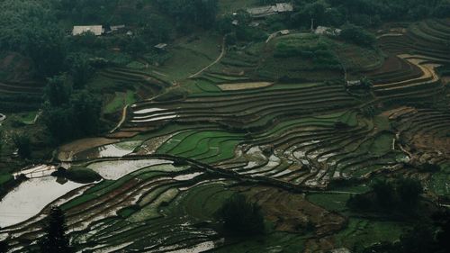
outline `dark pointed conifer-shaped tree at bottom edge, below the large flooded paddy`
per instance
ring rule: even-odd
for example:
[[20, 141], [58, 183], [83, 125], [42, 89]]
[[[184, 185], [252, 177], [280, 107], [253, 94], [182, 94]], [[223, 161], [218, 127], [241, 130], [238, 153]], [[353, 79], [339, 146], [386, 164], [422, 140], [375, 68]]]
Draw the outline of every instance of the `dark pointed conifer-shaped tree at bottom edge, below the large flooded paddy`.
[[66, 218], [64, 212], [58, 207], [53, 206], [47, 217], [47, 224], [44, 228], [45, 235], [38, 241], [41, 252], [74, 252], [69, 246], [69, 240], [66, 236]]

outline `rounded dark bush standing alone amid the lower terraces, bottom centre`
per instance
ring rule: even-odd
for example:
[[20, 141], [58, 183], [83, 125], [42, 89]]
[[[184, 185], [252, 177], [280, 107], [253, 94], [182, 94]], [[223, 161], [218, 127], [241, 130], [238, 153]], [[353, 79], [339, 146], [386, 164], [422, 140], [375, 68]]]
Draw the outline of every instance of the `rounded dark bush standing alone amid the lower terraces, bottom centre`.
[[247, 235], [264, 233], [264, 217], [261, 207], [251, 203], [242, 194], [235, 194], [219, 210], [226, 230]]

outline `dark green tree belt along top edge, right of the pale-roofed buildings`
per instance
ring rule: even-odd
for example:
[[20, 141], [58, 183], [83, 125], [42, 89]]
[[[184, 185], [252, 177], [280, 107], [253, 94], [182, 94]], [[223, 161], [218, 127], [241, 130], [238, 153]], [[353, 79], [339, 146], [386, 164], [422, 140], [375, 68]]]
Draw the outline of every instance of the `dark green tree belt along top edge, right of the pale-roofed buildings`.
[[[274, 4], [275, 1], [264, 1]], [[291, 23], [295, 27], [319, 25], [338, 27], [344, 23], [355, 23], [364, 27], [374, 27], [383, 22], [417, 21], [425, 18], [445, 18], [450, 16], [450, 3], [446, 0], [296, 0]], [[266, 5], [266, 4], [265, 4]]]

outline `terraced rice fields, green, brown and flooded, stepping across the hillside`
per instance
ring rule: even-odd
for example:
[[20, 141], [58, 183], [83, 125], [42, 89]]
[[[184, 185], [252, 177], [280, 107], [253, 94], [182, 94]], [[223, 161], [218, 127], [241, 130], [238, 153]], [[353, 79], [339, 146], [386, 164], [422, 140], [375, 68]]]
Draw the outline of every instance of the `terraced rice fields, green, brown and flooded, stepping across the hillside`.
[[[350, 248], [359, 239], [370, 245], [374, 234], [399, 238], [401, 228], [390, 222], [352, 219], [343, 230], [347, 221], [338, 212], [347, 212], [343, 203], [353, 193], [323, 190], [430, 162], [444, 169], [427, 183], [437, 194], [448, 194], [443, 182], [450, 114], [438, 106], [446, 87], [435, 69], [449, 54], [434, 46], [449, 37], [447, 21], [415, 23], [404, 34], [380, 36], [386, 59], [361, 66], [347, 61], [374, 82], [364, 95], [347, 89], [342, 69], [335, 69], [333, 77], [340, 79], [334, 81], [258, 74], [259, 55], [266, 50], [261, 43], [227, 51], [196, 77], [185, 79], [197, 68], [178, 73], [183, 78], [172, 85], [149, 72], [105, 69], [102, 78], [132, 84], [147, 99], [126, 107], [121, 123], [104, 138], [59, 149], [59, 160], [89, 167], [104, 180], [49, 201], [62, 204], [76, 248], [92, 252], [293, 252], [333, 249], [327, 248], [330, 241], [338, 247]], [[343, 55], [351, 58], [349, 51]], [[185, 94], [156, 99], [168, 86]], [[369, 106], [373, 115], [365, 113]], [[214, 213], [235, 193], [260, 203], [273, 223], [263, 243], [229, 243], [220, 235]], [[42, 214], [48, 212], [46, 206], [30, 220], [0, 230], [0, 237], [9, 234], [13, 252], [23, 252], [41, 235]], [[308, 226], [311, 231], [298, 233]]]

